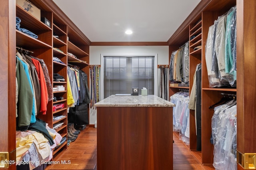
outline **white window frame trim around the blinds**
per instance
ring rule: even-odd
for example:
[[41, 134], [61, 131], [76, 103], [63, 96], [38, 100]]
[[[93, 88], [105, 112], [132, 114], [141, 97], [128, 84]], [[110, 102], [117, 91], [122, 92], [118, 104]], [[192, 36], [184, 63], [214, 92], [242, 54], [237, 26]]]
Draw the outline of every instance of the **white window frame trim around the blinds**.
[[157, 54], [100, 54], [100, 67], [102, 73], [100, 73], [100, 100], [104, 99], [104, 57], [145, 57], [145, 56], [154, 56], [154, 95], [157, 94]]

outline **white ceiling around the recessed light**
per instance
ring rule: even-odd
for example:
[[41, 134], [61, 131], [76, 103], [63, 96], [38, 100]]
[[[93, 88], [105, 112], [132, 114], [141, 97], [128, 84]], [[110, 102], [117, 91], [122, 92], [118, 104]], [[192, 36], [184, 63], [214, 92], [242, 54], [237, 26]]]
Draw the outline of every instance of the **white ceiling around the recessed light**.
[[[200, 0], [53, 0], [91, 42], [167, 42]], [[126, 29], [133, 34], [126, 35]]]

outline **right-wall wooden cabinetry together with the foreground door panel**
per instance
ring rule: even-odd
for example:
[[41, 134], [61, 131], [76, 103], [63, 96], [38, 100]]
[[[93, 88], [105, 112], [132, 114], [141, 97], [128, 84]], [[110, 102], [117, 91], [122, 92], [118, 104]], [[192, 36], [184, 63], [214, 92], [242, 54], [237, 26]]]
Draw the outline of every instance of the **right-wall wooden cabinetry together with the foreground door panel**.
[[[233, 6], [237, 6], [237, 87], [210, 88], [205, 60], [208, 30], [218, 16], [227, 13]], [[253, 147], [255, 130], [248, 130], [255, 127], [248, 120], [249, 117], [250, 119], [255, 117], [255, 108], [252, 106], [252, 103], [255, 103], [255, 97], [252, 97], [255, 88], [251, 84], [254, 79], [250, 78], [256, 65], [255, 59], [251, 58], [251, 54], [255, 53], [255, 48], [252, 46], [256, 43], [253, 33], [255, 24], [252, 24], [256, 17], [255, 11], [252, 10], [255, 6], [254, 0], [202, 0], [168, 40], [169, 55], [188, 40], [190, 42], [190, 91], [196, 65], [202, 63], [202, 151], [196, 151], [196, 125], [193, 110], [190, 110], [190, 145], [188, 147], [202, 164], [209, 165], [209, 169], [213, 168], [211, 165], [214, 157], [214, 146], [210, 143], [211, 119], [214, 111], [209, 109], [209, 106], [220, 101], [221, 93], [232, 93], [237, 96], [237, 150], [241, 152], [240, 156], [243, 157], [244, 153], [255, 153], [256, 151], [256, 148]], [[246, 16], [250, 16], [250, 19]], [[192, 36], [194, 37], [192, 38]], [[202, 47], [194, 50], [194, 47], [198, 45], [202, 45]], [[178, 92], [180, 88], [182, 87], [170, 86], [169, 96]], [[238, 160], [238, 169], [244, 169], [243, 167], [246, 167], [248, 162], [242, 162], [242, 159]], [[243, 166], [241, 166], [242, 164]]]

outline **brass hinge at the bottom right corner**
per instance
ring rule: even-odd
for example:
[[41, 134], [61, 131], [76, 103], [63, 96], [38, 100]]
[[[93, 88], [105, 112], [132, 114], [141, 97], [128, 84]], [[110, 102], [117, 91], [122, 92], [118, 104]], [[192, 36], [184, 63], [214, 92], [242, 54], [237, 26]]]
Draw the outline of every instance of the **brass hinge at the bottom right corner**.
[[241, 153], [237, 150], [237, 163], [245, 170], [256, 169], [256, 153]]

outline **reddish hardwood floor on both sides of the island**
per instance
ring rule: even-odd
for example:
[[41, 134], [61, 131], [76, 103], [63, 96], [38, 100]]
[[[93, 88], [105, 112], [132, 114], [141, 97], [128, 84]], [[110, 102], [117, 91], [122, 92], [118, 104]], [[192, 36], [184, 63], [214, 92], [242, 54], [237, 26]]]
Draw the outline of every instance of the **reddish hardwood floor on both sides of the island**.
[[[173, 170], [214, 170], [213, 166], [202, 166], [191, 154], [188, 147], [173, 133]], [[70, 164], [61, 164], [66, 160]], [[87, 127], [78, 138], [71, 142], [68, 150], [62, 152], [56, 161], [59, 164], [48, 166], [50, 170], [96, 170], [97, 169], [97, 129]]]

